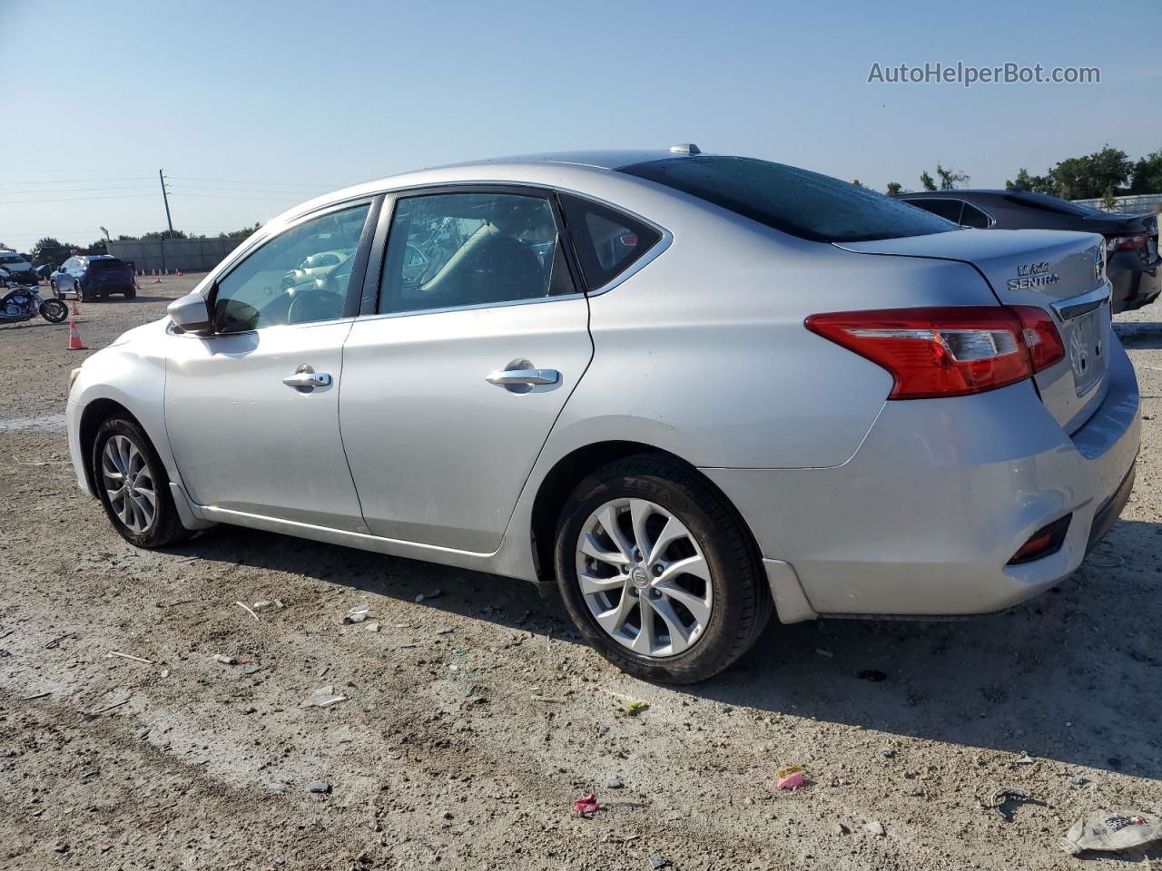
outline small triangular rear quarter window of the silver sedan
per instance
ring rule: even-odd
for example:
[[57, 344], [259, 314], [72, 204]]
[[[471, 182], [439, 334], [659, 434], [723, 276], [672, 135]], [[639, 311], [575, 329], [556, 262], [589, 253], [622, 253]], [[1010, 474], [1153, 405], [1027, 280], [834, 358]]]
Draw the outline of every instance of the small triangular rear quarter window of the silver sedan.
[[560, 201], [590, 290], [608, 285], [661, 239], [652, 226], [601, 203], [569, 194]]

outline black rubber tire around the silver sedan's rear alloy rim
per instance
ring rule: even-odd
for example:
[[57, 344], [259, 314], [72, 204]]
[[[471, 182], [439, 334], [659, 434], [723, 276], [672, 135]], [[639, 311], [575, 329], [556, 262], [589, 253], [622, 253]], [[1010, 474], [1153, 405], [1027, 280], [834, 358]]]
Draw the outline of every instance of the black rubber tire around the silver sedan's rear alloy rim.
[[[648, 499], [679, 518], [710, 567], [710, 619], [702, 636], [675, 656], [645, 656], [617, 642], [581, 593], [575, 548], [582, 527], [603, 504], [626, 497]], [[741, 518], [694, 468], [662, 454], [618, 460], [578, 484], [561, 510], [553, 550], [557, 583], [581, 634], [611, 663], [646, 681], [690, 684], [717, 675], [754, 645], [770, 618], [770, 590]]]

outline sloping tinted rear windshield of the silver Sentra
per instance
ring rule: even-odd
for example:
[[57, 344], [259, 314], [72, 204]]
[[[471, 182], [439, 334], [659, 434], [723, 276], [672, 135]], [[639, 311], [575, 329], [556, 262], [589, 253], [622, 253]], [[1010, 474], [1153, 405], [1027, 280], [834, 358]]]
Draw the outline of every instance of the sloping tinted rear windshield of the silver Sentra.
[[951, 221], [829, 175], [745, 157], [679, 157], [622, 167], [812, 242], [865, 242], [956, 230]]

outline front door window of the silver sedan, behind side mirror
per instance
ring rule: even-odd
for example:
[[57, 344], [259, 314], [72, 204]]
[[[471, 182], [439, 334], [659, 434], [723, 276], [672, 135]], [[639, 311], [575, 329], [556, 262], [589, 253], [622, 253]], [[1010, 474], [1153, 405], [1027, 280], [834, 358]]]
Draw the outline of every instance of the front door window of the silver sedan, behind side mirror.
[[[217, 282], [215, 329], [243, 332], [343, 317], [370, 208], [356, 206], [304, 221], [252, 252]], [[303, 268], [324, 253], [332, 255], [330, 265]]]

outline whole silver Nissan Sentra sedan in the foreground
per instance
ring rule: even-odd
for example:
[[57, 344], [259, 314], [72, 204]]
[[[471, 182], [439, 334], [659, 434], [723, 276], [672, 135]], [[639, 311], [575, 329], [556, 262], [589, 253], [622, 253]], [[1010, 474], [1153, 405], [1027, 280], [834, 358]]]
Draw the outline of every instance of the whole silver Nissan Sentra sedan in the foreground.
[[[311, 247], [344, 287], [270, 285]], [[1139, 446], [1104, 267], [695, 146], [428, 170], [292, 209], [89, 357], [70, 449], [135, 545], [225, 523], [523, 578], [693, 682], [773, 610], [980, 614], [1077, 568]]]

